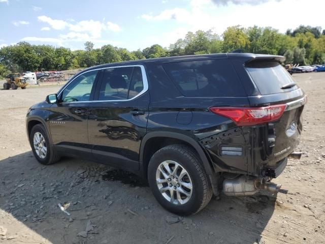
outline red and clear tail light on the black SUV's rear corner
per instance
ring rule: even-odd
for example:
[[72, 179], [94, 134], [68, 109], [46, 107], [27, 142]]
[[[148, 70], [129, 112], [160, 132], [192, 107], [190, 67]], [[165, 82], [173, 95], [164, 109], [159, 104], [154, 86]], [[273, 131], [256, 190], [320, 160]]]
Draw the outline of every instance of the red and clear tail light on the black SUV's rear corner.
[[211, 107], [211, 112], [232, 119], [237, 126], [254, 126], [279, 119], [285, 104], [266, 107]]

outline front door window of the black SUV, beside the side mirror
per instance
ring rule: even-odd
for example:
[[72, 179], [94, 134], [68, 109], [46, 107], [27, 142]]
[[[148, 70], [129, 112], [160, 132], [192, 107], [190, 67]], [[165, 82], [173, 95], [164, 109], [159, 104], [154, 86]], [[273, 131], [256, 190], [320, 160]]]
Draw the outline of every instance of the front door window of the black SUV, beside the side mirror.
[[98, 71], [90, 71], [74, 79], [62, 92], [62, 102], [89, 101]]

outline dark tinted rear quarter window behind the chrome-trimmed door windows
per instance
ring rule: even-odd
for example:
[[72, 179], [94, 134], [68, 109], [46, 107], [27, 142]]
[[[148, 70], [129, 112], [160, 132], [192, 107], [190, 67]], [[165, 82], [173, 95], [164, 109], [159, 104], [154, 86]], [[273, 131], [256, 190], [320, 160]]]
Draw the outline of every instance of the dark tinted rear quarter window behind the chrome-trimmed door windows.
[[246, 96], [229, 59], [169, 63], [164, 69], [187, 97]]

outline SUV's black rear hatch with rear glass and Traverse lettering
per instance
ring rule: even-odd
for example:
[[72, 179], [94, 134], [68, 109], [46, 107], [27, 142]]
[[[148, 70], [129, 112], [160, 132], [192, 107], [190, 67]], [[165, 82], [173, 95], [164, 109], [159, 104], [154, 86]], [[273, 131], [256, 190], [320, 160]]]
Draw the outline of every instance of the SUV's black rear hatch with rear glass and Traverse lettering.
[[251, 105], [283, 105], [284, 111], [279, 119], [252, 128], [255, 133], [253, 137], [258, 140], [255, 143], [259, 145], [253, 155], [255, 167], [261, 167], [262, 164], [266, 170], [268, 167], [276, 168], [299, 144], [306, 97], [279, 60], [249, 60], [244, 69], [258, 90], [257, 96], [248, 98]]

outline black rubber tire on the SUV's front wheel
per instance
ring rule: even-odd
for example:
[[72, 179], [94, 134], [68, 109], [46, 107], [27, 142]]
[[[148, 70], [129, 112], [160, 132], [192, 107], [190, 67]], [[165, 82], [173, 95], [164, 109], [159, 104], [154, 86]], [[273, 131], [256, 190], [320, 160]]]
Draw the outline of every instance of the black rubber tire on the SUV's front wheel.
[[[44, 151], [41, 150], [41, 152], [38, 150], [37, 152], [37, 146], [34, 145], [34, 137], [37, 134], [37, 138], [39, 138], [39, 135], [41, 135], [44, 138], [44, 143], [46, 147], [46, 153], [44, 154]], [[47, 132], [43, 125], [36, 125], [34, 126], [29, 135], [29, 143], [32, 149], [32, 153], [34, 154], [37, 161], [39, 161], [41, 164], [49, 165], [56, 163], [60, 157], [56, 153], [56, 150], [54, 149], [53, 144], [49, 141]], [[41, 140], [42, 143], [42, 140]]]

